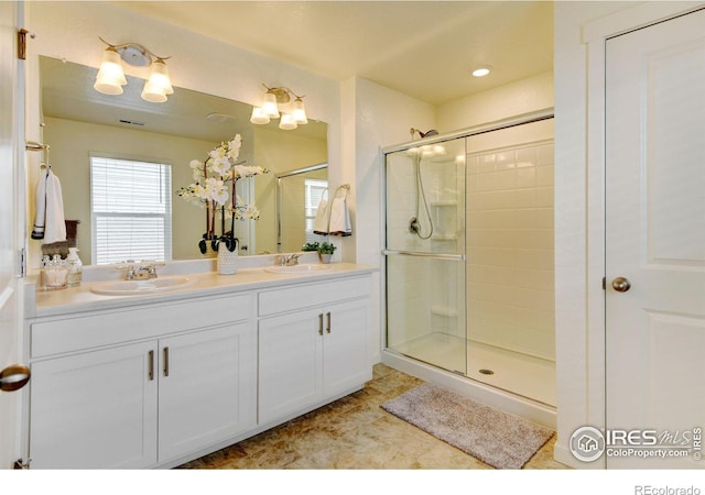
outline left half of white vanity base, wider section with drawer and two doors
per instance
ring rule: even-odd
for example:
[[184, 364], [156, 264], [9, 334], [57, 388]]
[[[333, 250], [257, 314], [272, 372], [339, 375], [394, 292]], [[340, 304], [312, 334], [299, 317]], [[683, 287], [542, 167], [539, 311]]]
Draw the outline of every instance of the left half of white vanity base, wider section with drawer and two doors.
[[30, 322], [29, 457], [151, 468], [257, 425], [252, 295]]

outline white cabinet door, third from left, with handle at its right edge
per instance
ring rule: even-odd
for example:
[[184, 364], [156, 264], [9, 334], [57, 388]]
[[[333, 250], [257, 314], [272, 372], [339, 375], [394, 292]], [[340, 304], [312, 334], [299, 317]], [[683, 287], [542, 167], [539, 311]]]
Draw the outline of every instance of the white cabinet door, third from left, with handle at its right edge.
[[323, 312], [310, 309], [259, 324], [259, 422], [315, 403], [323, 393]]

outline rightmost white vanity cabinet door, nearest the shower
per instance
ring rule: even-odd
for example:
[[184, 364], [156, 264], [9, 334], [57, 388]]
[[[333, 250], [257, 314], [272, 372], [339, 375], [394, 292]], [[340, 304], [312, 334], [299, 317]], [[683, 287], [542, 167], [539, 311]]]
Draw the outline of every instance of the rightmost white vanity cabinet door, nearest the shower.
[[369, 299], [351, 300], [325, 308], [323, 339], [324, 394], [330, 395], [371, 380], [367, 355]]

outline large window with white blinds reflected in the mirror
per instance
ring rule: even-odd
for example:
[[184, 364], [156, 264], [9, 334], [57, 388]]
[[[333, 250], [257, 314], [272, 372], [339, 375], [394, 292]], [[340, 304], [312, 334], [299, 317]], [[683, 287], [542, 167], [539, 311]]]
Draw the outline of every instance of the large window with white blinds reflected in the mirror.
[[171, 165], [90, 157], [91, 263], [171, 260]]

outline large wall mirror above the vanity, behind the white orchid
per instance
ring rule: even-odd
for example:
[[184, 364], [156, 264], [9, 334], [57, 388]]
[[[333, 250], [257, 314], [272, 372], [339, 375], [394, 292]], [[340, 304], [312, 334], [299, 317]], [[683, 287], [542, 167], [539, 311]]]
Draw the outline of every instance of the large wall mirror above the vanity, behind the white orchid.
[[[40, 56], [42, 140], [51, 146], [50, 165], [62, 183], [65, 218], [80, 221], [76, 244], [84, 263], [94, 260], [91, 156], [170, 165], [171, 258], [196, 258], [206, 212], [175, 191], [193, 182], [192, 160], [205, 160], [210, 150], [238, 133], [246, 165], [270, 169], [242, 191], [251, 195], [261, 216], [257, 221], [236, 222], [240, 254], [281, 250], [278, 233], [291, 226], [286, 215], [280, 224], [278, 209], [305, 215], [306, 206], [303, 194], [286, 195], [278, 205], [276, 177], [327, 162], [326, 123], [308, 119], [308, 124], [291, 131], [280, 130], [278, 121], [254, 125], [249, 121], [251, 106], [177, 87], [166, 102], [150, 103], [140, 98], [144, 81], [130, 76], [122, 95], [102, 95], [93, 88], [96, 73], [93, 67]], [[317, 178], [327, 179], [326, 167], [317, 170]]]

